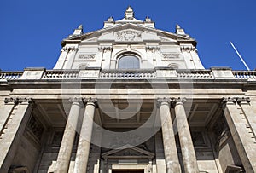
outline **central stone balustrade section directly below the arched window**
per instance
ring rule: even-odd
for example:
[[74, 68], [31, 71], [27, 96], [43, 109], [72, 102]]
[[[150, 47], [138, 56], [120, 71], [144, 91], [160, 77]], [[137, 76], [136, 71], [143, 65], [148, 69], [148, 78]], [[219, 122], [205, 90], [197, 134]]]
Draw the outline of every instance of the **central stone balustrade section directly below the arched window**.
[[154, 70], [102, 70], [100, 78], [155, 78]]

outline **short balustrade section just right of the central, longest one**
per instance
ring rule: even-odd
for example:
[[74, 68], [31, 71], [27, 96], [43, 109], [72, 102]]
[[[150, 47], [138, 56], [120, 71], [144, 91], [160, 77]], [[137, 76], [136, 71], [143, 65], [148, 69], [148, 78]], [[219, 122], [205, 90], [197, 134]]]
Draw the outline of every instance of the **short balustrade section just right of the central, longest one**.
[[177, 70], [177, 77], [191, 79], [214, 78], [211, 70]]

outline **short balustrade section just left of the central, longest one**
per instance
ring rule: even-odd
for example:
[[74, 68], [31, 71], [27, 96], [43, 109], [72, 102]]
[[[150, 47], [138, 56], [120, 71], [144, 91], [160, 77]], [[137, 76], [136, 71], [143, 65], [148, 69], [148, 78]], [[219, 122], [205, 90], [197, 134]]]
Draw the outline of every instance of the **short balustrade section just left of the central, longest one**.
[[43, 79], [74, 79], [78, 78], [79, 70], [47, 70]]

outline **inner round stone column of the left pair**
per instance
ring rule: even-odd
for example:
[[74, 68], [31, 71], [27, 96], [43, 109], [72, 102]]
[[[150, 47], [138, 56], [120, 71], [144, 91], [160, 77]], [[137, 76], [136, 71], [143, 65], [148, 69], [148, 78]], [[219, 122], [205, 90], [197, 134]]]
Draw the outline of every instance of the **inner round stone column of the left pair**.
[[79, 137], [79, 147], [76, 154], [74, 172], [84, 173], [87, 169], [87, 163], [90, 153], [90, 140], [93, 128], [93, 118], [96, 107], [96, 99], [84, 99], [86, 103], [83, 123]]

